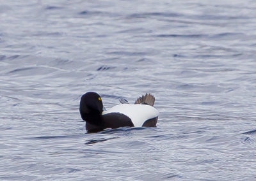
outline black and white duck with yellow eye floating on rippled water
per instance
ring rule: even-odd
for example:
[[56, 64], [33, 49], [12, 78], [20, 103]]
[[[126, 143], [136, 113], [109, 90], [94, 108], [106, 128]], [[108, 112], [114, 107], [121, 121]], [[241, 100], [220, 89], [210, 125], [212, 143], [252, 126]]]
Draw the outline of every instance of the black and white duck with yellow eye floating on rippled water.
[[79, 112], [86, 122], [87, 133], [97, 133], [106, 128], [156, 127], [159, 112], [154, 108], [155, 98], [150, 93], [136, 99], [134, 104], [129, 104], [124, 98], [119, 101], [121, 104], [106, 110], [99, 94], [83, 94]]

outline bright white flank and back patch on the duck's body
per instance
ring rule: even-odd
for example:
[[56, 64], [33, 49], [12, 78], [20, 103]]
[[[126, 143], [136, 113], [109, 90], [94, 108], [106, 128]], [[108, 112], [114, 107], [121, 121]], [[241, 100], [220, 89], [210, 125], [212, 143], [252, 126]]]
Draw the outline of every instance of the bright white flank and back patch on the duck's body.
[[107, 113], [122, 113], [127, 115], [132, 120], [134, 127], [141, 127], [143, 123], [159, 115], [156, 108], [149, 105], [129, 105], [122, 104], [113, 106], [107, 111], [104, 111], [102, 115]]

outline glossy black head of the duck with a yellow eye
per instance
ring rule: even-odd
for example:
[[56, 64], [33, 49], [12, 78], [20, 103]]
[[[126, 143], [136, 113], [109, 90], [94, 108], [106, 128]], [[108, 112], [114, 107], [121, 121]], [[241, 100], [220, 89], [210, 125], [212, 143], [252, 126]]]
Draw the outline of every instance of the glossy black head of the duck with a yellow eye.
[[81, 97], [80, 115], [83, 120], [90, 124], [98, 125], [103, 112], [102, 100], [96, 92], [87, 92]]

